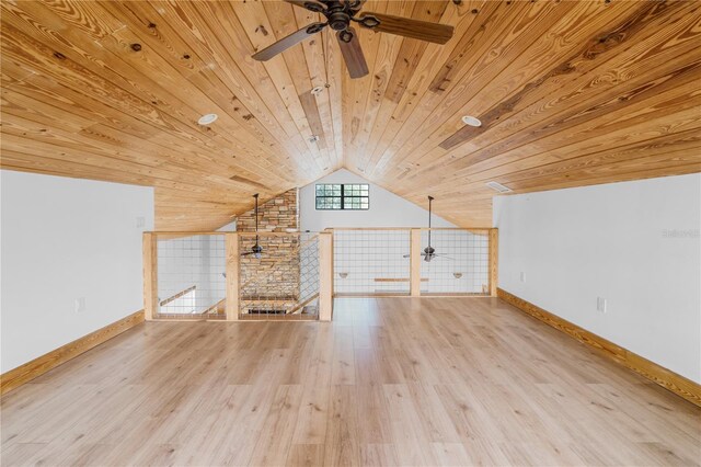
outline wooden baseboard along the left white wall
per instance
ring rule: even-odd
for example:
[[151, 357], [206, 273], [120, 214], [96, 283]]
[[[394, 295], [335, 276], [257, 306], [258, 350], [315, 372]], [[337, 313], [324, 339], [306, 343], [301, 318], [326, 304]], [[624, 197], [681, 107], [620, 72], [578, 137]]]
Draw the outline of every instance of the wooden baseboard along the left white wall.
[[88, 335], [83, 335], [73, 342], [34, 358], [33, 361], [18, 366], [14, 369], [10, 369], [9, 372], [0, 375], [0, 395], [4, 395], [19, 386], [31, 381], [58, 365], [61, 365], [90, 349], [108, 341], [115, 335], [134, 328], [140, 322], [143, 322], [143, 310], [129, 315], [126, 318], [113, 322], [112, 324], [107, 324]]

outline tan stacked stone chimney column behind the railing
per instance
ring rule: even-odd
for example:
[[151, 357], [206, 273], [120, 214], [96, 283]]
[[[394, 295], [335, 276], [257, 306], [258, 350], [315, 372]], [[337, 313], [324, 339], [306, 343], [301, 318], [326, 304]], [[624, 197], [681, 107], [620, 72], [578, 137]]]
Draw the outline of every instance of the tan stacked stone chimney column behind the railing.
[[[297, 204], [298, 190], [289, 190], [258, 206], [258, 231], [285, 232], [299, 227]], [[240, 215], [237, 231], [255, 231], [255, 210]], [[269, 304], [269, 308], [285, 308], [299, 298], [299, 238], [289, 236], [261, 236], [262, 258], [241, 257], [241, 299], [246, 307], [262, 308], [266, 305], [250, 304], [258, 298], [284, 299], [286, 304]], [[255, 237], [242, 237], [240, 251], [251, 251]]]

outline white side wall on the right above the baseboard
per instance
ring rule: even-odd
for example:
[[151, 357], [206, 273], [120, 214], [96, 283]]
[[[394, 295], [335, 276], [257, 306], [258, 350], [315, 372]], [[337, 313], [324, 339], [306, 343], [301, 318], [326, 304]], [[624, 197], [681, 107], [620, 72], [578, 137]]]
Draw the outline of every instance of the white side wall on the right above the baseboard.
[[700, 213], [701, 174], [497, 196], [499, 287], [701, 381]]

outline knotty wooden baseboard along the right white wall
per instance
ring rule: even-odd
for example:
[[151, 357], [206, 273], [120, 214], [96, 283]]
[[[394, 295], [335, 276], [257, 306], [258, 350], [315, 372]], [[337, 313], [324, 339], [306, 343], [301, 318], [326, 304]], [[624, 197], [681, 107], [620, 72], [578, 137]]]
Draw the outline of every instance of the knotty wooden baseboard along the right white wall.
[[677, 373], [651, 362], [620, 345], [614, 344], [593, 332], [589, 332], [578, 326], [566, 321], [544, 309], [509, 294], [508, 292], [497, 288], [497, 296], [509, 305], [515, 306], [531, 317], [551, 326], [577, 341], [585, 343], [608, 358], [625, 366], [629, 369], [644, 376], [653, 383], [658, 384], [665, 389], [669, 389], [677, 396], [681, 396], [689, 402], [701, 407], [701, 385], [687, 379]]

